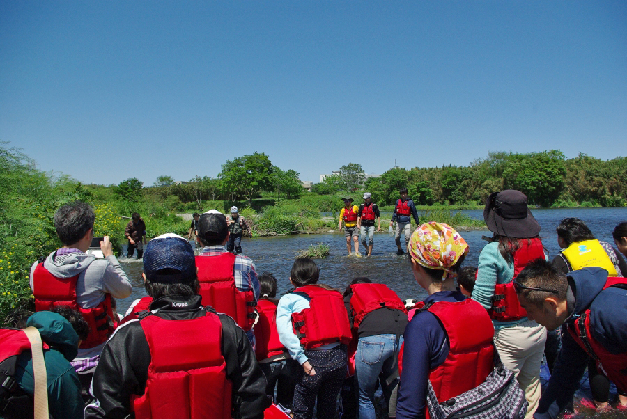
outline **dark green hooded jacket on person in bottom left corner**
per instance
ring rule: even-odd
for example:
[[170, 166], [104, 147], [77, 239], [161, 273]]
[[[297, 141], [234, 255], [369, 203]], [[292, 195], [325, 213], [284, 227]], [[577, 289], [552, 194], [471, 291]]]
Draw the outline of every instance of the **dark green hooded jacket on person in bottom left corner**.
[[[85, 405], [81, 397], [81, 383], [70, 361], [78, 352], [79, 337], [63, 316], [49, 311], [33, 314], [26, 326], [39, 330], [41, 340], [51, 349], [44, 351], [48, 384], [49, 414], [55, 418], [83, 418]], [[15, 379], [24, 393], [33, 395], [33, 359], [24, 351], [17, 359]]]

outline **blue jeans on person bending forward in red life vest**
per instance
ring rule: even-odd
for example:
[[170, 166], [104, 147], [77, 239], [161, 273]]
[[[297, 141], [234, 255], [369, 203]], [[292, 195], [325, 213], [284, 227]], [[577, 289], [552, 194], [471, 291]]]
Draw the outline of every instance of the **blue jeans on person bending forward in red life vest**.
[[385, 402], [389, 403], [389, 395], [398, 380], [389, 385], [387, 377], [398, 368], [398, 356], [394, 363], [394, 354], [398, 353], [403, 344], [403, 336], [395, 343], [396, 335], [374, 335], [359, 338], [355, 352], [355, 379], [359, 388], [359, 419], [376, 419], [374, 393], [380, 379]]

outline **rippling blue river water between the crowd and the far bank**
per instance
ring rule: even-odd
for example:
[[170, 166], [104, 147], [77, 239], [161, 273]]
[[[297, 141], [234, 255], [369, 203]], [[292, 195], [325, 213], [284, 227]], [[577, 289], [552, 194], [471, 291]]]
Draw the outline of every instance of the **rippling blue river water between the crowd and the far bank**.
[[[476, 219], [483, 219], [483, 210], [461, 211]], [[534, 217], [540, 223], [540, 235], [543, 244], [553, 258], [559, 252], [555, 228], [564, 217], [574, 216], [585, 221], [597, 239], [614, 243], [612, 231], [621, 221], [627, 221], [625, 208], [577, 208], [559, 210], [532, 210]], [[147, 220], [150, 223], [150, 220]], [[325, 259], [318, 259], [320, 266], [320, 282], [336, 287], [343, 291], [350, 280], [356, 276], [367, 276], [378, 283], [385, 283], [394, 290], [401, 299], [421, 299], [426, 293], [415, 283], [408, 259], [396, 255], [394, 237], [387, 235], [387, 224], [382, 225], [381, 232], [375, 234], [373, 254], [371, 258], [349, 257], [346, 251], [346, 239], [343, 232], [325, 233], [318, 235], [292, 235], [280, 237], [258, 237], [242, 239], [244, 254], [251, 258], [259, 274], [272, 272], [277, 277], [279, 294], [290, 289], [289, 274], [294, 262], [295, 253], [306, 249], [312, 244], [325, 243], [330, 248], [330, 255]], [[479, 253], [486, 242], [483, 235], [491, 236], [488, 230], [460, 231], [462, 237], [470, 246], [470, 253], [465, 260], [465, 266], [477, 266]], [[403, 237], [401, 237], [401, 241]], [[360, 251], [364, 253], [363, 246]], [[123, 255], [126, 254], [124, 249]], [[130, 303], [146, 295], [141, 280], [141, 260], [120, 258], [120, 262], [133, 284], [133, 294], [127, 299], [118, 300], [118, 311], [124, 313]]]

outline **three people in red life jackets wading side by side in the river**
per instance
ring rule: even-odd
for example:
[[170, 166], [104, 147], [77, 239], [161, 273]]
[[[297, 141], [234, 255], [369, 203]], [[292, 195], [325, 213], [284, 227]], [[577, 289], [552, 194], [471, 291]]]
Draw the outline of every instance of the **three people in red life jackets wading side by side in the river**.
[[[396, 228], [394, 231], [394, 241], [398, 251], [396, 254], [404, 255], [405, 251], [401, 247], [401, 232], [405, 234], [405, 248], [410, 241], [412, 220], [416, 222], [416, 225], [420, 225], [418, 218], [418, 212], [414, 201], [408, 197], [407, 188], [403, 187], [398, 191], [401, 194], [401, 198], [396, 200], [394, 206], [394, 212], [392, 213], [392, 219], [389, 221], [389, 228], [392, 229], [396, 222]], [[346, 249], [348, 255], [355, 255], [361, 257], [359, 253], [359, 242], [362, 242], [364, 249], [366, 250], [366, 257], [370, 257], [372, 254], [372, 248], [374, 245], [374, 232], [375, 221], [377, 223], [377, 231], [381, 231], [381, 216], [379, 207], [372, 201], [372, 195], [369, 192], [364, 193], [364, 203], [362, 205], [353, 205], [353, 198], [342, 198], [344, 207], [339, 214], [339, 230], [342, 230], [342, 223], [344, 225], [344, 236], [346, 237]], [[353, 240], [355, 246], [355, 253], [351, 252], [350, 241]]]

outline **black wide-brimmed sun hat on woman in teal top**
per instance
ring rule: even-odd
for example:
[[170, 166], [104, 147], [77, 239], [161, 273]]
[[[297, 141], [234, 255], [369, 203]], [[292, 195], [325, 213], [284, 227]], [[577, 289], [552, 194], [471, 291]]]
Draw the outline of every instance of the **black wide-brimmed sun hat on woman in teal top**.
[[540, 224], [527, 207], [527, 196], [513, 189], [491, 193], [483, 219], [488, 229], [500, 236], [529, 239], [540, 233]]

